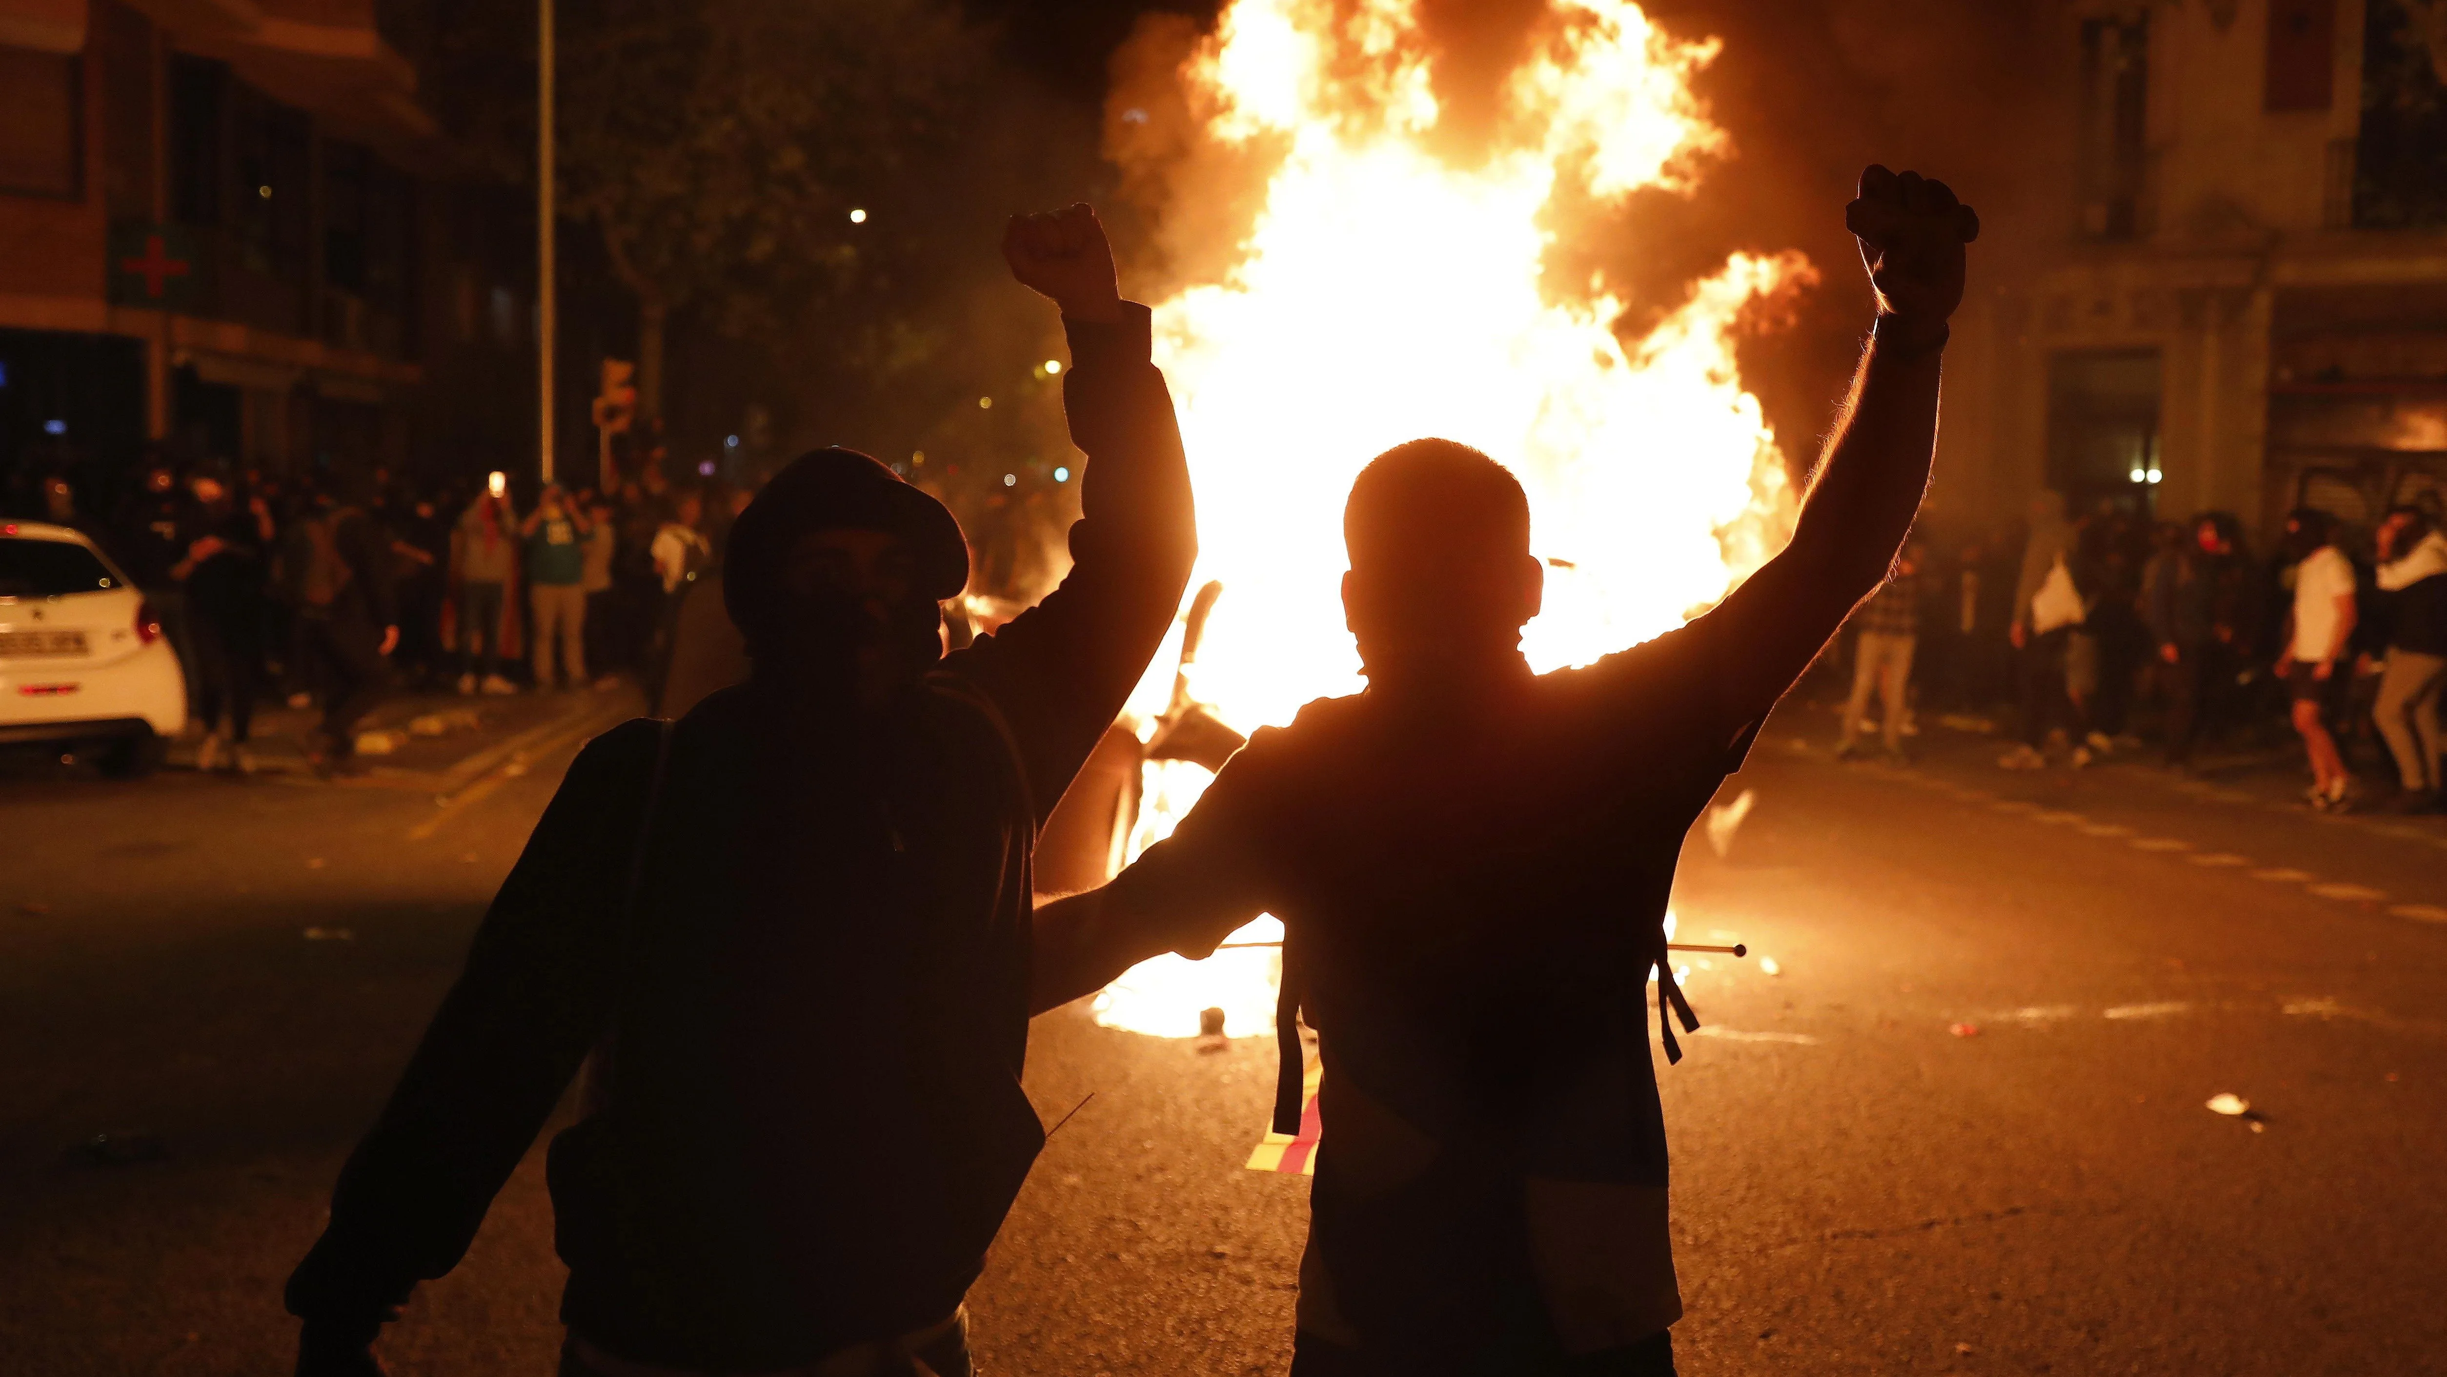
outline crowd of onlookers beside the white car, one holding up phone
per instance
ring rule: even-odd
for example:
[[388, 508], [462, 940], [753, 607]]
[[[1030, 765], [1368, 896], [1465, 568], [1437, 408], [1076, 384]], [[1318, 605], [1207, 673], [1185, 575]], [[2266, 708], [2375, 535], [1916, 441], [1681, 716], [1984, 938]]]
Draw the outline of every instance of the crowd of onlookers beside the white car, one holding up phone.
[[357, 773], [357, 724], [389, 692], [653, 690], [678, 602], [749, 492], [678, 482], [661, 448], [624, 460], [602, 489], [538, 492], [154, 450], [103, 516], [73, 470], [12, 506], [95, 538], [144, 592], [186, 670], [198, 768], [252, 770], [254, 712], [284, 700], [323, 709], [308, 761]]

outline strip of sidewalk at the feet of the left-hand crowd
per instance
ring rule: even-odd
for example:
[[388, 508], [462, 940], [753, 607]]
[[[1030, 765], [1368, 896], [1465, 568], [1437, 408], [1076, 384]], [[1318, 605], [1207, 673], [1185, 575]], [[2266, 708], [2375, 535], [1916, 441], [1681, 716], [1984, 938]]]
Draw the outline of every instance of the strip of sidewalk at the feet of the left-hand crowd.
[[[401, 692], [369, 712], [357, 726], [357, 756], [372, 766], [360, 778], [343, 780], [372, 788], [450, 792], [458, 783], [482, 775], [519, 748], [597, 724], [587, 734], [644, 712], [636, 685], [480, 695]], [[277, 704], [254, 714], [254, 773], [281, 783], [323, 783], [306, 766], [306, 741], [323, 709]], [[171, 744], [164, 761], [171, 770], [196, 768], [196, 724]]]

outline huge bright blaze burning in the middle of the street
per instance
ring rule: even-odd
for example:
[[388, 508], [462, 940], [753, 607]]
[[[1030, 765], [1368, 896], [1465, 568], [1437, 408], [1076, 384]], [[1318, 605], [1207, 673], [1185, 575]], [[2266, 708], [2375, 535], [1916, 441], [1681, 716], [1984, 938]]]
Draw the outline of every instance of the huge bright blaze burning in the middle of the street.
[[[1290, 722], [1361, 687], [1343, 629], [1341, 506], [1361, 465], [1419, 435], [1478, 445], [1529, 489], [1547, 611], [1539, 670], [1679, 626], [1789, 536], [1794, 494], [1732, 325], [1808, 274], [1735, 254], [1647, 338], [1615, 335], [1603, 284], [1556, 301], [1544, 274], [1559, 196], [1691, 191], [1723, 132], [1676, 42], [1625, 0], [1551, 0], [1510, 73], [1498, 142], [1456, 166], [1414, 0], [1236, 0], [1182, 66], [1201, 139], [1272, 157], [1253, 232], [1219, 279], [1155, 308], [1199, 497], [1199, 575], [1221, 580], [1192, 697], [1233, 726]], [[1617, 230], [1622, 232], [1622, 230]], [[1135, 707], [1162, 709], [1160, 658]], [[1128, 854], [1165, 836], [1211, 775], [1148, 766]], [[1236, 942], [1268, 942], [1260, 920]], [[1162, 956], [1096, 998], [1111, 1027], [1187, 1037], [1272, 1025], [1275, 951]]]

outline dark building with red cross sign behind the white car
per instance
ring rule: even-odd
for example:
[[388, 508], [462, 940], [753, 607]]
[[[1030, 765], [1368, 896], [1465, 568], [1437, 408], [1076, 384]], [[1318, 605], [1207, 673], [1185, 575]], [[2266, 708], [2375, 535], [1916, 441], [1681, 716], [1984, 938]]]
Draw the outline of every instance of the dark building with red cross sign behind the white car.
[[533, 220], [418, 100], [416, 5], [0, 0], [0, 497], [149, 445], [531, 450]]

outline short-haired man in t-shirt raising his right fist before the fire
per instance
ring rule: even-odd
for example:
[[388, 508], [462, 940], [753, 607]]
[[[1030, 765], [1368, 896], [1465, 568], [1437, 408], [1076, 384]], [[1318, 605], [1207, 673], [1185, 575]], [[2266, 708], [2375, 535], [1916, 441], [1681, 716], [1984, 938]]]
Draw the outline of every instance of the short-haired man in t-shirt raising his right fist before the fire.
[[1343, 509], [1365, 692], [1260, 729], [1167, 841], [1038, 910], [1040, 1010], [1282, 920], [1277, 1130], [1302, 1113], [1294, 1013], [1324, 1059], [1294, 1377], [1674, 1370], [1639, 1008], [1652, 969], [1681, 1003], [1674, 863], [1911, 528], [1977, 232], [1943, 183], [1882, 166], [1847, 223], [1872, 342], [1791, 545], [1715, 611], [1534, 675], [1520, 636], [1544, 582], [1520, 482], [1451, 440], [1397, 445]]

